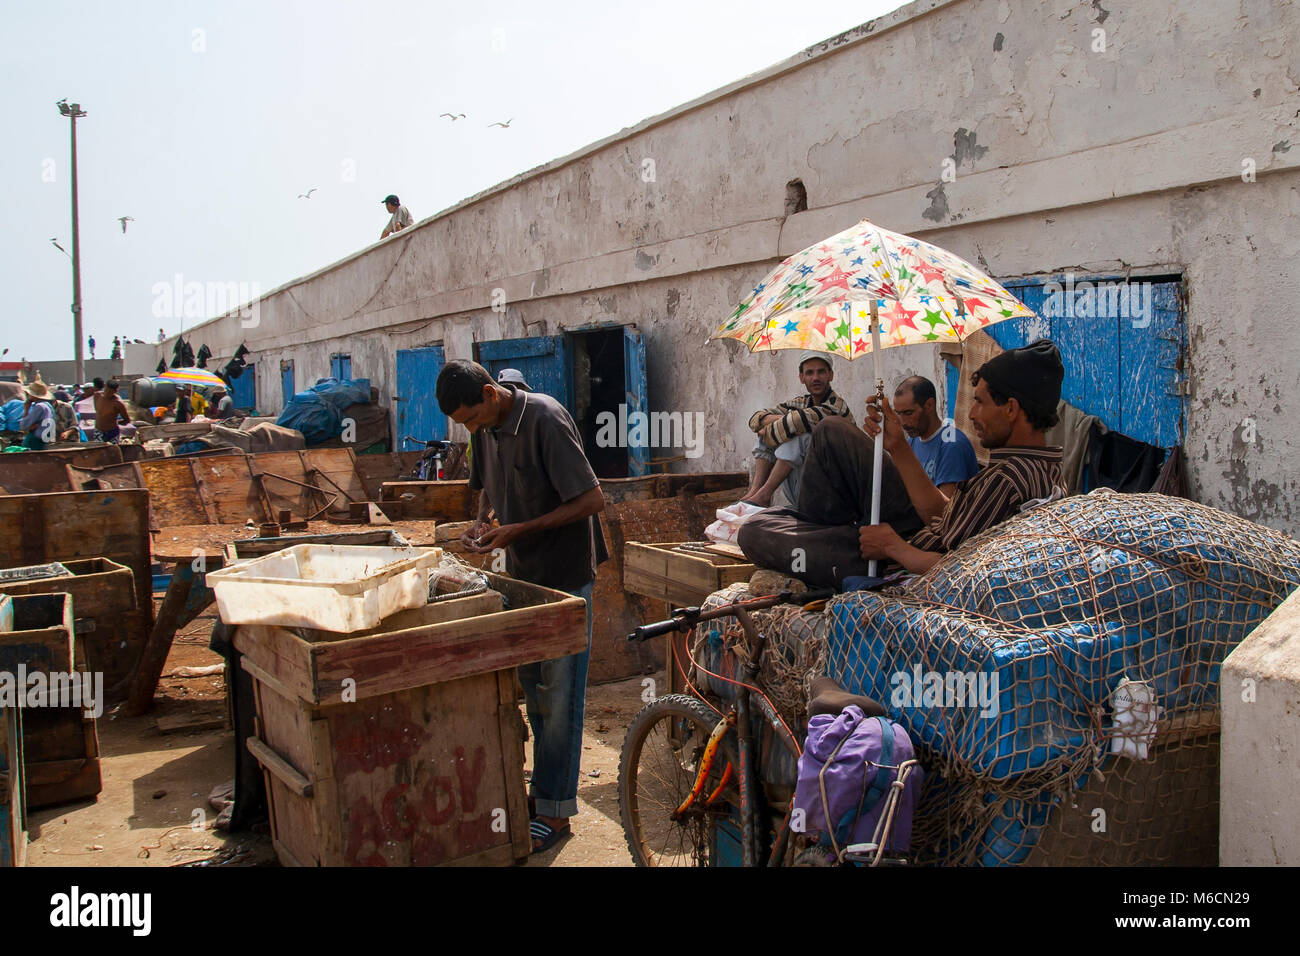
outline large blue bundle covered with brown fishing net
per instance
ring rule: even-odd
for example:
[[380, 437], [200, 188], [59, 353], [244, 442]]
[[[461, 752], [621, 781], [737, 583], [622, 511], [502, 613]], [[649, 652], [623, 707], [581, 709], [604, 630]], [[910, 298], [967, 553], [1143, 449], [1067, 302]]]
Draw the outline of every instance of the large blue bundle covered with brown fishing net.
[[[1223, 658], [1297, 584], [1300, 545], [1282, 532], [1098, 490], [1018, 515], [904, 588], [837, 598], [826, 670], [888, 706], [937, 770], [916, 834], [930, 860], [1017, 864], [1091, 774], [1119, 792], [1193, 724], [1217, 756]], [[1136, 739], [1117, 721], [1124, 680], [1158, 708], [1140, 756], [1113, 753]], [[1162, 818], [1136, 821], [1130, 857], [1110, 858], [1145, 858], [1141, 834], [1214, 812], [1188, 809], [1204, 799], [1175, 763], [1124, 791], [1162, 788]]]

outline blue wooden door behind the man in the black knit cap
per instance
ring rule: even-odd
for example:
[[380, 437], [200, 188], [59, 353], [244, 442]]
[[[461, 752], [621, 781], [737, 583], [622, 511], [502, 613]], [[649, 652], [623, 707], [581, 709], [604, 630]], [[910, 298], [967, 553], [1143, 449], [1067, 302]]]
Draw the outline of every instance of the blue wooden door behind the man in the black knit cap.
[[1010, 280], [1037, 317], [991, 325], [1004, 349], [1049, 337], [1061, 349], [1061, 398], [1148, 445], [1183, 441], [1183, 307], [1178, 280]]

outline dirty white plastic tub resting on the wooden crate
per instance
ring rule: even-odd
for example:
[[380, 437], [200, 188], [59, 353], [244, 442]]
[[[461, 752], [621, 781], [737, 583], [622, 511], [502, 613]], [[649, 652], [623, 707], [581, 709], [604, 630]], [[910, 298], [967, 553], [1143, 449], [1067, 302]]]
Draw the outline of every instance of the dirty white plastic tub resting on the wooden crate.
[[441, 548], [295, 545], [208, 572], [228, 624], [280, 624], [351, 633], [429, 600]]

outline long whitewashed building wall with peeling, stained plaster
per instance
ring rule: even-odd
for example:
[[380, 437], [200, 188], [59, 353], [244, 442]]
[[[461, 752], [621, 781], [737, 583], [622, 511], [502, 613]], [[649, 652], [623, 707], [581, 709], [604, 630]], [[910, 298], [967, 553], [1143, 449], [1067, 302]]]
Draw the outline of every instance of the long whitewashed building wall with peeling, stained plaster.
[[[1000, 277], [1183, 273], [1193, 490], [1297, 532], [1297, 35], [1291, 0], [923, 0], [276, 290], [256, 328], [187, 334], [246, 341], [278, 407], [282, 358], [302, 388], [350, 352], [390, 402], [399, 349], [637, 323], [651, 407], [706, 415], [689, 466], [734, 468], [797, 356], [705, 338], [781, 258], [870, 216]], [[784, 217], [796, 177], [809, 209]], [[942, 389], [932, 350], [884, 365]], [[871, 386], [870, 362], [837, 363], [855, 408]]]

